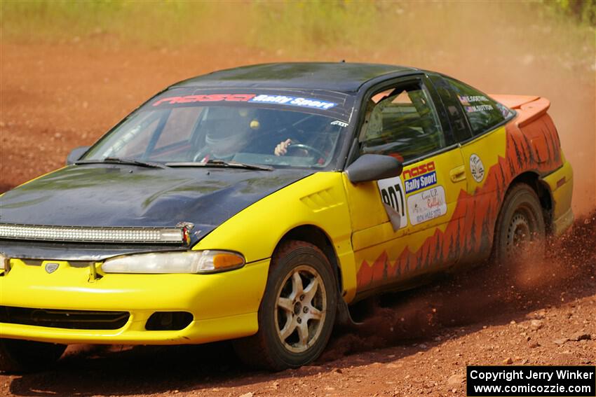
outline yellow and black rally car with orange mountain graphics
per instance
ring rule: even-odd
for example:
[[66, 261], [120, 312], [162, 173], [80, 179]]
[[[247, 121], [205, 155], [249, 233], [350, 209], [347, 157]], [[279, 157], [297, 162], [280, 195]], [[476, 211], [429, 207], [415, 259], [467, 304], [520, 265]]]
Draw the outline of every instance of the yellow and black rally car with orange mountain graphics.
[[0, 369], [232, 339], [251, 365], [309, 363], [358, 300], [571, 225], [548, 107], [380, 64], [172, 85], [0, 197]]

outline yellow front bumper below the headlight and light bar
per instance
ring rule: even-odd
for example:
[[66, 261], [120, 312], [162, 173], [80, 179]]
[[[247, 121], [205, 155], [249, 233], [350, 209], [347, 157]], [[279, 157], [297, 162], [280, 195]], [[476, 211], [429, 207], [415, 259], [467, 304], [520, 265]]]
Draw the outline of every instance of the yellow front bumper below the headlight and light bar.
[[[57, 263], [46, 272], [47, 263]], [[196, 344], [252, 335], [269, 259], [217, 274], [104, 274], [66, 261], [11, 260], [0, 273], [0, 306], [61, 311], [128, 312], [118, 329], [67, 329], [0, 322], [0, 336], [55, 343]], [[0, 271], [1, 272], [1, 271]], [[182, 330], [147, 330], [155, 312], [189, 312]]]

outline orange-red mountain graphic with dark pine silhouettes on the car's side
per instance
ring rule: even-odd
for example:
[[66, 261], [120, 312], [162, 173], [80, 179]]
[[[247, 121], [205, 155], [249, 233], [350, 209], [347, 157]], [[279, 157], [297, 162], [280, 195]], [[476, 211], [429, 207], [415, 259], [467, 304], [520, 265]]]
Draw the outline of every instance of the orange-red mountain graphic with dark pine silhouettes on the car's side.
[[560, 141], [550, 117], [543, 113], [531, 123], [528, 121], [517, 120], [506, 125], [505, 157], [499, 156], [498, 162], [490, 167], [484, 185], [472, 195], [461, 190], [445, 231], [437, 228], [417, 251], [406, 248], [395, 260], [384, 251], [372, 264], [363, 261], [356, 275], [358, 291], [390, 284], [400, 274], [448, 267], [459, 258], [466, 261], [486, 258], [492, 247], [501, 202], [511, 181], [523, 172], [546, 174], [562, 165]]

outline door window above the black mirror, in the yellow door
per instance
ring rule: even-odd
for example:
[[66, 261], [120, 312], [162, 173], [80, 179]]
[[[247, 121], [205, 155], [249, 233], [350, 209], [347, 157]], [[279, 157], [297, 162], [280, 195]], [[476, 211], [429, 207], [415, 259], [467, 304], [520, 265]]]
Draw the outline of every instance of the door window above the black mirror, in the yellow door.
[[360, 131], [360, 154], [391, 155], [401, 162], [445, 147], [437, 112], [421, 83], [373, 95]]

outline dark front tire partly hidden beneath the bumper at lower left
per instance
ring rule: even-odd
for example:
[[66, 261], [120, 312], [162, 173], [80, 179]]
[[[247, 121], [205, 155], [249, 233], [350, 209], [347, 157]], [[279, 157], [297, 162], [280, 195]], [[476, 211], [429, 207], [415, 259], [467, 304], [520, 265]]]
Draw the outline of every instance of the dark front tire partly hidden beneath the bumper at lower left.
[[51, 368], [62, 356], [65, 344], [0, 339], [0, 371], [22, 373]]

